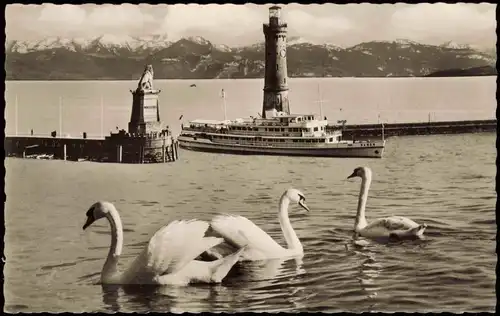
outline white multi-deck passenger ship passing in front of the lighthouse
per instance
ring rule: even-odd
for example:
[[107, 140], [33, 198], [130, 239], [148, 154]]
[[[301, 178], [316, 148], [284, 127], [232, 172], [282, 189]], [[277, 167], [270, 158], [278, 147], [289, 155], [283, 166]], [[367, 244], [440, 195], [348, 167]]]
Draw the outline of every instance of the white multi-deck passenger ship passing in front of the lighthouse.
[[247, 155], [382, 158], [385, 140], [343, 140], [314, 114], [276, 113], [270, 118], [194, 120], [182, 126], [179, 146], [188, 150]]

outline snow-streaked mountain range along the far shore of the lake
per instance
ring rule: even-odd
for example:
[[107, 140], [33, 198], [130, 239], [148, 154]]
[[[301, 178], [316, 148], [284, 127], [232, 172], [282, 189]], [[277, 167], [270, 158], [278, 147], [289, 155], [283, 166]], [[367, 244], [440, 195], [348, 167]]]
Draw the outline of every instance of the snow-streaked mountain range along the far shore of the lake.
[[[5, 56], [7, 80], [137, 80], [146, 64], [153, 65], [156, 79], [262, 78], [265, 67], [263, 42], [229, 47], [164, 35], [8, 40]], [[496, 51], [409, 40], [341, 48], [292, 37], [287, 63], [289, 77], [418, 77], [484, 67], [495, 75]]]

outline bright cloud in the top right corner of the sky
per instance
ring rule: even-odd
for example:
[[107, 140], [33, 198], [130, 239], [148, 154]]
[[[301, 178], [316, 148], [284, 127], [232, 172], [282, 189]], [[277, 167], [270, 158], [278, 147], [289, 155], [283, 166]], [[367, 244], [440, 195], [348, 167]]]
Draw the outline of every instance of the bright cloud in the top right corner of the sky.
[[494, 31], [495, 24], [494, 5], [481, 12], [478, 5], [462, 3], [409, 5], [394, 12], [391, 18], [393, 32], [416, 38], [430, 35], [453, 37], [457, 34]]

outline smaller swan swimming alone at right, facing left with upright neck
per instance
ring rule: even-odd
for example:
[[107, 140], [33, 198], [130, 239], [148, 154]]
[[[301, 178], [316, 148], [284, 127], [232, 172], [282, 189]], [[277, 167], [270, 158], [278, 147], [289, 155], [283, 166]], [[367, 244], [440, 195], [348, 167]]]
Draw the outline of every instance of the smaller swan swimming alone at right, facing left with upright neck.
[[372, 171], [368, 167], [358, 167], [347, 179], [360, 177], [361, 190], [359, 192], [358, 212], [354, 231], [356, 234], [366, 238], [412, 238], [421, 237], [426, 224], [419, 225], [406, 217], [391, 216], [379, 218], [370, 224], [365, 217], [366, 200], [368, 199], [368, 190], [372, 181]]

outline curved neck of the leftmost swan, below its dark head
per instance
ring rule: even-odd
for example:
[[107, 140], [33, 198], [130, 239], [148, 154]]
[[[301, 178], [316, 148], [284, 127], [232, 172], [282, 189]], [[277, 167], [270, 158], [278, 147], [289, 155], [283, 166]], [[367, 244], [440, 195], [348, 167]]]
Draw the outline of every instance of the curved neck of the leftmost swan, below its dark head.
[[102, 278], [109, 279], [118, 272], [118, 259], [123, 247], [123, 227], [120, 215], [116, 209], [112, 209], [106, 215], [111, 226], [111, 247], [102, 270]]

